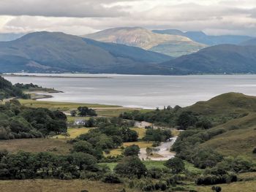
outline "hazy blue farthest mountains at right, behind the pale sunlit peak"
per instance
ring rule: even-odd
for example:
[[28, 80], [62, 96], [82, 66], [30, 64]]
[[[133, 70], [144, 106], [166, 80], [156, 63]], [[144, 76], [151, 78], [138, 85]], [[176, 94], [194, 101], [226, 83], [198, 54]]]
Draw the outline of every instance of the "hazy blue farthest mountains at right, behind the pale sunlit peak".
[[210, 36], [203, 31], [179, 31], [176, 29], [166, 29], [166, 30], [154, 30], [157, 34], [178, 34], [180, 36], [188, 37], [195, 42], [203, 43], [205, 45], [221, 45], [221, 44], [233, 44], [239, 45], [241, 42], [252, 39], [248, 36], [239, 35], [220, 35], [220, 36]]

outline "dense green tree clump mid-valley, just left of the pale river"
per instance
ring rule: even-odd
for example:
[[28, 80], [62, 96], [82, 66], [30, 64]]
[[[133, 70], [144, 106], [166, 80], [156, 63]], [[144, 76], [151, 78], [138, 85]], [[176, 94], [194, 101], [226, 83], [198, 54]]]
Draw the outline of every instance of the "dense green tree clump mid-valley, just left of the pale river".
[[[97, 118], [94, 126], [88, 133], [81, 134], [72, 140], [76, 152], [90, 153], [102, 158], [103, 151], [106, 153], [122, 145], [123, 142], [138, 141], [138, 133], [129, 128], [129, 123], [120, 118]], [[97, 155], [95, 155], [97, 154]]]

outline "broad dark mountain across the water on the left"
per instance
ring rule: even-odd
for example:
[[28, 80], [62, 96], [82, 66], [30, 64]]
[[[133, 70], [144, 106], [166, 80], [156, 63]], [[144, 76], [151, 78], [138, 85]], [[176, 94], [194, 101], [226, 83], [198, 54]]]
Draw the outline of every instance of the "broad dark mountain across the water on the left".
[[159, 74], [170, 56], [63, 33], [36, 32], [0, 42], [0, 72]]

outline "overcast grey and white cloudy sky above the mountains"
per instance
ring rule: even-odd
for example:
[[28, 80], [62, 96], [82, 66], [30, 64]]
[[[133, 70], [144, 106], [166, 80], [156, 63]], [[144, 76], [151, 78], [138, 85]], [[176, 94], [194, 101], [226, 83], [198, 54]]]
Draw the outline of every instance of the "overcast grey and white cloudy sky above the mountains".
[[256, 37], [256, 0], [0, 0], [0, 33], [132, 26]]

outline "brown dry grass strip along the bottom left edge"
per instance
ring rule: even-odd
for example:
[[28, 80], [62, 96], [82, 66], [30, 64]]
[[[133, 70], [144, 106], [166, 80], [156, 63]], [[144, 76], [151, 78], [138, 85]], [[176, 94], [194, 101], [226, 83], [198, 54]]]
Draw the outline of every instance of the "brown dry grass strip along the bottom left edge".
[[122, 185], [106, 184], [89, 180], [1, 180], [3, 192], [119, 192]]

